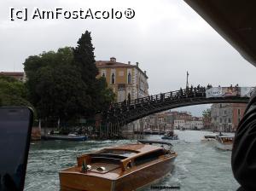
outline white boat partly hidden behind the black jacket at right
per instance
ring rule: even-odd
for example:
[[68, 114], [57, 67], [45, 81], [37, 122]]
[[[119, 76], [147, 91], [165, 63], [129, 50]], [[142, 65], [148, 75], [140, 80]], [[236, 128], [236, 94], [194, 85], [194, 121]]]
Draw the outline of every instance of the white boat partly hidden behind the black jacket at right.
[[216, 147], [222, 150], [231, 151], [233, 148], [234, 136], [224, 136], [218, 135], [216, 136]]

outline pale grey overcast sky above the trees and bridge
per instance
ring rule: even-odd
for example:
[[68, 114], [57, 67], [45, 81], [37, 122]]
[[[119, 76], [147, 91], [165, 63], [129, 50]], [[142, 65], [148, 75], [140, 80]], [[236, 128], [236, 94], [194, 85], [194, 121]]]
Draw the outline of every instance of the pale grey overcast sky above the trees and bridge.
[[[10, 20], [9, 8], [28, 9], [28, 20]], [[131, 20], [32, 20], [38, 9], [134, 9]], [[91, 32], [96, 60], [138, 61], [148, 74], [149, 94], [189, 84], [253, 86], [256, 68], [181, 0], [1, 0], [0, 71], [23, 71], [29, 55], [76, 46], [81, 33]], [[205, 106], [207, 107], [207, 106]], [[192, 107], [195, 115], [204, 107]], [[184, 109], [182, 109], [184, 110]]]

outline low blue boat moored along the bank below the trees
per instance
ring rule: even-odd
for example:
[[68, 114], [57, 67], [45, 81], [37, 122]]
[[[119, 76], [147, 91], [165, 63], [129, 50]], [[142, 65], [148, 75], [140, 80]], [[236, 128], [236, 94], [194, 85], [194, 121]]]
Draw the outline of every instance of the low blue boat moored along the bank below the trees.
[[84, 142], [88, 139], [88, 137], [70, 133], [67, 136], [64, 136], [64, 135], [46, 135], [46, 136], [42, 136], [42, 139], [44, 139], [44, 140], [63, 140], [63, 141], [73, 141], [73, 142]]

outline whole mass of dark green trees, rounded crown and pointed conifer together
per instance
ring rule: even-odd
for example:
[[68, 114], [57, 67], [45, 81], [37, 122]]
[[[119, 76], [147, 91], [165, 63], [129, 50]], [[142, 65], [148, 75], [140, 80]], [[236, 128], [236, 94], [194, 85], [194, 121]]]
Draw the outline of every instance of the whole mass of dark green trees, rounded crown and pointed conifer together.
[[78, 46], [29, 56], [24, 62], [29, 101], [41, 119], [71, 121], [89, 118], [113, 101], [105, 78], [96, 79], [94, 48], [90, 32]]

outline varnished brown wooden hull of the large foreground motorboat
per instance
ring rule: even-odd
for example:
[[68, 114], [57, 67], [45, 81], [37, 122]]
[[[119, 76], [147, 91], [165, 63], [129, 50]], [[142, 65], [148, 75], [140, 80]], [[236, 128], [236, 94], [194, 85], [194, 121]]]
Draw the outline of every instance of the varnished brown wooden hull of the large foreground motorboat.
[[125, 171], [118, 178], [110, 179], [87, 176], [82, 173], [60, 172], [61, 191], [131, 191], [165, 177], [173, 170], [175, 157], [163, 159], [155, 163], [137, 167], [135, 171]]

